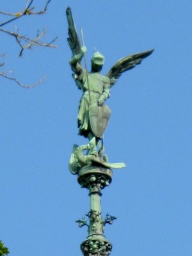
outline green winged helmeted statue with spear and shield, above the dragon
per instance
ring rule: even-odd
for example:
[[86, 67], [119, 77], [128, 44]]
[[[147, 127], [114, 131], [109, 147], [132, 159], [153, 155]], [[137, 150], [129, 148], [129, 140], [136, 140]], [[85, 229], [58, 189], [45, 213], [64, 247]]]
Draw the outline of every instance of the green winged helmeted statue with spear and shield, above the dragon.
[[74, 72], [72, 76], [76, 81], [77, 87], [83, 92], [83, 96], [79, 102], [79, 113], [77, 116], [79, 134], [88, 138], [89, 141], [95, 140], [95, 147], [90, 147], [87, 155], [98, 156], [97, 143], [99, 140], [102, 140], [111, 114], [110, 109], [105, 104], [106, 99], [110, 97], [111, 87], [123, 72], [136, 67], [154, 49], [132, 54], [118, 60], [105, 76], [100, 74], [100, 70], [102, 70], [102, 66], [104, 65], [104, 56], [97, 51], [92, 56], [92, 69], [88, 72], [81, 65], [86, 47], [84, 45], [81, 47], [69, 7], [66, 13], [68, 20], [67, 40], [73, 54], [70, 59], [70, 65]]

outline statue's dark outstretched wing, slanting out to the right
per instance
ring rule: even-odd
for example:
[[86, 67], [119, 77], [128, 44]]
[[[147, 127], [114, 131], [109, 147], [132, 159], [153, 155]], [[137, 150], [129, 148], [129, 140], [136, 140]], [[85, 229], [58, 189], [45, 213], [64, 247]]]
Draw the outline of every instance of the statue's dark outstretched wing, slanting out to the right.
[[118, 77], [120, 77], [123, 72], [134, 68], [136, 65], [140, 64], [141, 61], [144, 58], [148, 57], [153, 51], [154, 49], [145, 52], [139, 52], [118, 60], [115, 65], [113, 65], [113, 67], [109, 70], [106, 76], [108, 76], [110, 79], [113, 79], [115, 83], [116, 79], [118, 79]]

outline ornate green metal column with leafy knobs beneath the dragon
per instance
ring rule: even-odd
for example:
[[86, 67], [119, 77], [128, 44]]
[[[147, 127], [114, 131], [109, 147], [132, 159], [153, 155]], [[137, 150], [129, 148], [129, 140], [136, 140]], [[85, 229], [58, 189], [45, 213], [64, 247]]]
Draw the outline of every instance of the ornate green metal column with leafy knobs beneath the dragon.
[[[111, 253], [112, 244], [104, 236], [104, 226], [109, 223], [109, 220], [111, 220], [109, 224], [112, 224], [115, 217], [108, 215], [104, 220], [102, 219], [100, 196], [102, 195], [101, 190], [111, 183], [112, 174], [113, 172], [109, 168], [100, 166], [85, 166], [79, 171], [77, 179], [79, 184], [82, 188], [87, 188], [90, 191], [90, 211], [86, 214], [89, 224], [84, 223], [88, 226], [88, 237], [81, 243], [81, 251], [84, 256], [90, 256], [90, 253], [92, 253], [91, 255], [109, 255]], [[79, 220], [80, 223], [81, 220]]]

